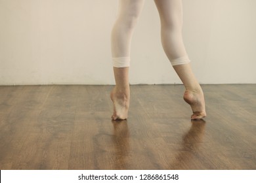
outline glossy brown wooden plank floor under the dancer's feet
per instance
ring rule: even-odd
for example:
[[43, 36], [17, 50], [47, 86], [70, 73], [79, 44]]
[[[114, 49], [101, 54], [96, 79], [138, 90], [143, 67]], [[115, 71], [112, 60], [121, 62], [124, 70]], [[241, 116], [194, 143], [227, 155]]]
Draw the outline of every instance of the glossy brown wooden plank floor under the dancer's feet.
[[0, 86], [0, 169], [256, 169], [256, 85], [203, 85], [190, 121], [181, 85], [131, 86], [112, 122], [113, 86]]

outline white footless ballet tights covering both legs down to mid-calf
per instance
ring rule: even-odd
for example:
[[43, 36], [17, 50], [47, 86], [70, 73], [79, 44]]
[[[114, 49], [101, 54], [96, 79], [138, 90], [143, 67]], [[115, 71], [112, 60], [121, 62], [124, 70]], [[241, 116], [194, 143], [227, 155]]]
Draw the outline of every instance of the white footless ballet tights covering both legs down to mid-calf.
[[[190, 62], [182, 41], [182, 0], [154, 0], [161, 20], [161, 42], [172, 65]], [[131, 38], [144, 0], [119, 0], [119, 14], [112, 29], [114, 67], [129, 67]]]

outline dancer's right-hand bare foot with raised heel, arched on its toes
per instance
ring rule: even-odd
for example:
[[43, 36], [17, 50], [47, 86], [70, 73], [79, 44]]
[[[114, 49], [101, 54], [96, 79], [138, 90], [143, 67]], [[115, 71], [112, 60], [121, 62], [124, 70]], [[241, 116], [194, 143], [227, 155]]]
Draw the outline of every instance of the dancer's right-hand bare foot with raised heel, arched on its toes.
[[186, 90], [184, 93], [184, 101], [190, 105], [192, 108], [193, 114], [191, 116], [191, 120], [200, 120], [205, 118], [205, 101], [203, 97], [203, 92], [195, 92]]

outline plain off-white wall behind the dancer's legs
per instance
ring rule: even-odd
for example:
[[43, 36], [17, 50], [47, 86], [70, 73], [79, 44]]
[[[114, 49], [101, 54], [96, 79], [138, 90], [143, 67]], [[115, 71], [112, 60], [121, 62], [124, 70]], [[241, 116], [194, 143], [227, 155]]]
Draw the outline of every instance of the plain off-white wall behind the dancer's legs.
[[[184, 42], [202, 84], [256, 83], [256, 1], [184, 0]], [[0, 0], [0, 85], [114, 84], [117, 0]], [[181, 83], [154, 1], [133, 36], [131, 84]]]

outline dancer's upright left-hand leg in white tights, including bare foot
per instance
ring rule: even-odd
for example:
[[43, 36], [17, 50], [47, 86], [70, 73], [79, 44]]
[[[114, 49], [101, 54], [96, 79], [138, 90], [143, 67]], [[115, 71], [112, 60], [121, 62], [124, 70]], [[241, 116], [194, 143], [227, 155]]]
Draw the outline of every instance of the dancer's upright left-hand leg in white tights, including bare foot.
[[112, 58], [116, 86], [110, 93], [114, 104], [113, 120], [125, 120], [128, 117], [129, 59], [131, 37], [144, 0], [119, 0], [119, 14], [112, 29]]

